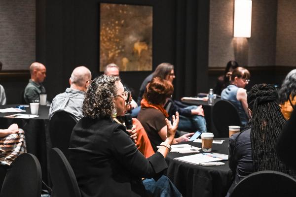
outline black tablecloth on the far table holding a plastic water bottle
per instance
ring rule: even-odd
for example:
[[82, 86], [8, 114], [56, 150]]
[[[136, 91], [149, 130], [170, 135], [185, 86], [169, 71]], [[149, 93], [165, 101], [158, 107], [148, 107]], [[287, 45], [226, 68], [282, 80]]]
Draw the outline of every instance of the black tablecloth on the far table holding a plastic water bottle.
[[[221, 100], [221, 99], [215, 99], [214, 104], [218, 100]], [[212, 109], [214, 104], [209, 105], [208, 101], [202, 101], [202, 100], [183, 100], [182, 102], [189, 105], [202, 105], [202, 108], [204, 109], [204, 113], [205, 113], [208, 132], [213, 132], [214, 135], [218, 136], [218, 131], [216, 130], [214, 123], [212, 121]]]

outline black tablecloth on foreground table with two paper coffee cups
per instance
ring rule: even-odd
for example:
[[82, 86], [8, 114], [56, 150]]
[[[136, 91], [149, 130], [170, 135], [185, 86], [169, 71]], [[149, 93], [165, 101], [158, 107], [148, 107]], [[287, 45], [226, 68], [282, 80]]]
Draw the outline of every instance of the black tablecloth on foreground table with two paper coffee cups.
[[[228, 155], [228, 138], [222, 144], [213, 144], [212, 152]], [[200, 147], [201, 143], [184, 142]], [[201, 166], [178, 160], [190, 154], [169, 153], [166, 161], [169, 165], [167, 176], [176, 185], [184, 197], [225, 197], [231, 183], [232, 172], [228, 161], [222, 166]]]

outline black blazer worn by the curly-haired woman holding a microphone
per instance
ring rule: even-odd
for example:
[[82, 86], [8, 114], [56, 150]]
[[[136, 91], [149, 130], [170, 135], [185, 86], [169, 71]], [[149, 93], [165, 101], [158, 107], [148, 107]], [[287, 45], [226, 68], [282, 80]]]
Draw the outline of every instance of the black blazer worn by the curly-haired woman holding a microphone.
[[146, 159], [111, 119], [80, 119], [69, 151], [82, 197], [146, 196], [141, 177], [157, 179], [167, 168], [162, 154]]

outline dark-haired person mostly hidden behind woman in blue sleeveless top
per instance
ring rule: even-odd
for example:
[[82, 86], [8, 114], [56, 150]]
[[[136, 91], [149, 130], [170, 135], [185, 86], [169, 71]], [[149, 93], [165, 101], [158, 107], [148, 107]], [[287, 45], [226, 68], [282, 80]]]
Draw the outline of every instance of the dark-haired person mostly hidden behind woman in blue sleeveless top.
[[214, 94], [221, 95], [222, 90], [224, 90], [229, 85], [229, 72], [231, 73], [235, 68], [238, 67], [238, 63], [235, 61], [229, 61], [224, 70], [224, 74], [218, 77], [216, 86], [214, 88]]

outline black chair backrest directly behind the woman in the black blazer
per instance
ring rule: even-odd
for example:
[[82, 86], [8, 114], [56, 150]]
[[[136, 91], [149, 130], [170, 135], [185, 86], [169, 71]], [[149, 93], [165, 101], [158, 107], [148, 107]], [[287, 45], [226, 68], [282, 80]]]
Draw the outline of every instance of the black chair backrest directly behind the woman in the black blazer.
[[73, 169], [65, 155], [58, 148], [50, 150], [49, 172], [54, 197], [81, 197]]

